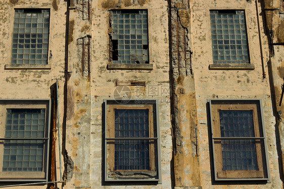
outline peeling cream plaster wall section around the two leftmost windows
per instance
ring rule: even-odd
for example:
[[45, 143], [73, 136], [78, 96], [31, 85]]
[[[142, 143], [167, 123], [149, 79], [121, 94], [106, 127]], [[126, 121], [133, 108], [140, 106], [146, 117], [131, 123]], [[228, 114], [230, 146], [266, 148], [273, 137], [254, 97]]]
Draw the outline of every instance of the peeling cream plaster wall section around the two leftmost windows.
[[[14, 9], [44, 8], [50, 9], [50, 38], [48, 64], [51, 69], [18, 70], [5, 69], [11, 64], [12, 31]], [[61, 0], [2, 0], [0, 1], [0, 99], [50, 99], [51, 85], [59, 79], [60, 122], [63, 121], [63, 86], [64, 86], [64, 54], [65, 54], [65, 12], [66, 2]], [[52, 56], [51, 56], [52, 54]], [[52, 123], [51, 123], [52, 125]], [[62, 133], [62, 131], [61, 131]], [[57, 132], [58, 134], [58, 132]], [[57, 136], [58, 138], [58, 136]], [[56, 141], [57, 180], [59, 173], [59, 147]], [[63, 160], [63, 156], [62, 156]], [[62, 164], [63, 161], [62, 161]], [[63, 170], [62, 170], [63, 171]], [[9, 183], [4, 183], [9, 184]], [[14, 184], [14, 183], [13, 183]], [[3, 185], [2, 183], [0, 185]], [[61, 184], [58, 184], [61, 187]], [[30, 185], [9, 188], [46, 188], [46, 185]]]

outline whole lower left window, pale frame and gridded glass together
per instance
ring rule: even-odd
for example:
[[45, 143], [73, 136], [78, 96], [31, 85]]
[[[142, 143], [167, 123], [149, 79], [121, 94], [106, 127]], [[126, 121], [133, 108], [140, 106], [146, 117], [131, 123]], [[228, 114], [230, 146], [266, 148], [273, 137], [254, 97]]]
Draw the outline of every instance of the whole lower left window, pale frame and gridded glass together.
[[0, 101], [0, 181], [46, 180], [49, 100]]

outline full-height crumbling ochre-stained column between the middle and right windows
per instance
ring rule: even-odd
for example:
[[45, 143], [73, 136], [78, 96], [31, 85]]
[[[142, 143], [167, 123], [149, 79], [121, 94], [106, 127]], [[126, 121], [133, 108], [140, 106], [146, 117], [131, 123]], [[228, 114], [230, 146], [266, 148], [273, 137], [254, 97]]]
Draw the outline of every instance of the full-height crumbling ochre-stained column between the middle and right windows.
[[201, 187], [195, 82], [191, 59], [190, 5], [169, 1], [170, 80], [175, 187]]

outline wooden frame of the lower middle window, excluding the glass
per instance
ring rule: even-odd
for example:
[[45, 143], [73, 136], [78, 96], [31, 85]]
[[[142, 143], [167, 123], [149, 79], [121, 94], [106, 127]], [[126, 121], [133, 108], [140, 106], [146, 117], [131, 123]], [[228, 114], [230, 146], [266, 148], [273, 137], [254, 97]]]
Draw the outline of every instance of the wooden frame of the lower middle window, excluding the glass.
[[[159, 129], [159, 104], [157, 100], [104, 100], [105, 112], [105, 181], [158, 181], [161, 183], [161, 149]], [[149, 136], [127, 137], [135, 140], [149, 140], [150, 168], [114, 169], [115, 160], [115, 110], [149, 110]], [[148, 139], [149, 138], [149, 139]], [[123, 140], [120, 137], [117, 140]], [[148, 146], [148, 145], [147, 145]]]

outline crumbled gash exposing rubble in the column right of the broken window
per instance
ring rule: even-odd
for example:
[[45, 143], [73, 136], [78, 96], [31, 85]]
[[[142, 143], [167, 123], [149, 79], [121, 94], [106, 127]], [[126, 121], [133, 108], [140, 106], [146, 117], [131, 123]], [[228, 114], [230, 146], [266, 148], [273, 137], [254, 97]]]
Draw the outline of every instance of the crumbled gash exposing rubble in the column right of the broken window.
[[[177, 2], [177, 1], [175, 1]], [[190, 16], [188, 8], [182, 3], [175, 3], [170, 8], [170, 37], [171, 37], [171, 67], [172, 67], [172, 115], [173, 115], [173, 134], [174, 134], [174, 152], [182, 153], [181, 131], [178, 123], [178, 108], [177, 108], [177, 79], [179, 75], [193, 77], [191, 66], [191, 50], [188, 39], [188, 27], [190, 27]]]

